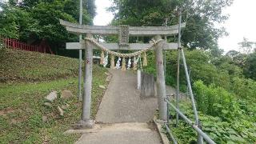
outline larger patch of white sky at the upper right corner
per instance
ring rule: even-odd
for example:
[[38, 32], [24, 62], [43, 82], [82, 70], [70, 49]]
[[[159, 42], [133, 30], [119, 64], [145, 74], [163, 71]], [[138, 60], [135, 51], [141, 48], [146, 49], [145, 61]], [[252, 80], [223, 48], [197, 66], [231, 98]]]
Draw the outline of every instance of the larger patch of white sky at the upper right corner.
[[255, 6], [255, 0], [234, 0], [234, 4], [225, 10], [230, 19], [223, 26], [230, 35], [219, 39], [220, 48], [226, 52], [238, 50], [238, 42], [242, 42], [243, 37], [256, 42]]

